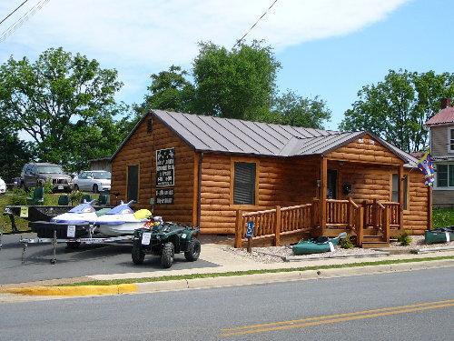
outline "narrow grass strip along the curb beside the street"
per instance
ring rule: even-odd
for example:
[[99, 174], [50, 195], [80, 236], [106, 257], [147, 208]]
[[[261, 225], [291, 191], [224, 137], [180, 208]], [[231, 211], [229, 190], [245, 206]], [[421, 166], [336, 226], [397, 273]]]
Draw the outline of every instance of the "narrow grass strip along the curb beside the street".
[[419, 263], [419, 262], [444, 260], [444, 259], [454, 259], [454, 256], [380, 260], [380, 261], [376, 261], [376, 262], [360, 262], [360, 263], [350, 263], [350, 264], [338, 264], [338, 265], [331, 265], [331, 266], [304, 266], [304, 267], [267, 269], [267, 270], [230, 271], [230, 272], [224, 272], [224, 273], [210, 273], [210, 274], [192, 274], [192, 275], [159, 276], [159, 277], [144, 277], [144, 278], [123, 278], [123, 279], [112, 279], [112, 280], [94, 280], [94, 281], [79, 282], [79, 283], [74, 283], [74, 284], [63, 284], [63, 285], [58, 285], [58, 286], [112, 286], [112, 285], [144, 283], [144, 282], [164, 282], [164, 281], [173, 281], [173, 280], [178, 280], [178, 279], [247, 276], [247, 275], [257, 275], [257, 274], [276, 274], [276, 273], [286, 273], [286, 272], [294, 272], [294, 271], [325, 270], [325, 269], [338, 269], [338, 268], [344, 268], [344, 267], [359, 267], [359, 266], [387, 266], [387, 265], [392, 265], [392, 264]]

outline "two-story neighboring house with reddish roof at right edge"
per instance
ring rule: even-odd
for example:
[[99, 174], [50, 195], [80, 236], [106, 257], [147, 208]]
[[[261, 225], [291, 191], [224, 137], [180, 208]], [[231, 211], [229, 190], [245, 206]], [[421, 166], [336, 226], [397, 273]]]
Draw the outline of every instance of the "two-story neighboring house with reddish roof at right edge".
[[435, 159], [433, 205], [454, 206], [454, 107], [449, 98], [441, 99], [439, 113], [425, 126], [429, 128], [430, 152]]

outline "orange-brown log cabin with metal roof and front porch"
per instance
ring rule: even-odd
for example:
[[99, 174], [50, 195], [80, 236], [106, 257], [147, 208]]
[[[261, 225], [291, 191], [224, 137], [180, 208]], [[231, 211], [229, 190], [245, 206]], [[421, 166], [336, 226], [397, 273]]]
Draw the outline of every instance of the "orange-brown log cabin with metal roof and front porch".
[[[154, 216], [281, 245], [347, 231], [386, 246], [430, 226], [417, 159], [367, 132], [153, 110], [112, 158], [112, 190]], [[112, 203], [114, 204], [114, 202]]]

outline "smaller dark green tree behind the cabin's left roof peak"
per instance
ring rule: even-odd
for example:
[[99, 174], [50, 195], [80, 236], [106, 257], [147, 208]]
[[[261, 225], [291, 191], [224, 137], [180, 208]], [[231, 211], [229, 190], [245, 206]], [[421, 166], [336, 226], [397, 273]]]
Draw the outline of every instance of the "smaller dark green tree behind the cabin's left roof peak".
[[152, 84], [147, 87], [150, 95], [145, 95], [143, 104], [136, 105], [135, 111], [140, 114], [150, 109], [192, 112], [194, 87], [186, 79], [187, 75], [186, 71], [175, 65], [168, 71], [151, 75]]

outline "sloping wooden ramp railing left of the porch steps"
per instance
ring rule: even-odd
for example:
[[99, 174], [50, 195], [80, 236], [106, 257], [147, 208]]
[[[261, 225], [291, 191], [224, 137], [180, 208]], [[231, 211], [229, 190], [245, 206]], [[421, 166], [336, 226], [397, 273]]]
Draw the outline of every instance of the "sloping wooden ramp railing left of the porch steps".
[[237, 211], [235, 229], [235, 247], [242, 247], [246, 236], [246, 225], [254, 223], [253, 239], [272, 238], [274, 246], [281, 245], [281, 235], [288, 235], [311, 229], [312, 204], [283, 207], [242, 213]]

